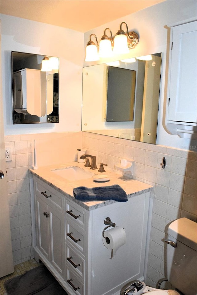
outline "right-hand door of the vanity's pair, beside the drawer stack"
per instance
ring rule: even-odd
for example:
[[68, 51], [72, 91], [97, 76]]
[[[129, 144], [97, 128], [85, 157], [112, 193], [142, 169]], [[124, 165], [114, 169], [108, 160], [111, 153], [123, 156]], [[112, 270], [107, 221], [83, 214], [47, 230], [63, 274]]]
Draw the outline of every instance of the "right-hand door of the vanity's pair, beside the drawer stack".
[[48, 206], [48, 218], [50, 222], [50, 262], [58, 273], [63, 277], [64, 274], [64, 249], [63, 249], [63, 218], [62, 214]]

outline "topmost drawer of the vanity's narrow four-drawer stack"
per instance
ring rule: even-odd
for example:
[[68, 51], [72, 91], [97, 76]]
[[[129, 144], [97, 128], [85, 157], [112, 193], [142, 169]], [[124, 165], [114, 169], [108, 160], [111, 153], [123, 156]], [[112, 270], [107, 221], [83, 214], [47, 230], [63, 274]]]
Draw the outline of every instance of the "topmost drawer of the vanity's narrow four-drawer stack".
[[78, 208], [75, 204], [67, 201], [65, 214], [66, 218], [69, 217], [71, 220], [76, 222], [76, 224], [84, 228], [84, 210], [82, 208]]

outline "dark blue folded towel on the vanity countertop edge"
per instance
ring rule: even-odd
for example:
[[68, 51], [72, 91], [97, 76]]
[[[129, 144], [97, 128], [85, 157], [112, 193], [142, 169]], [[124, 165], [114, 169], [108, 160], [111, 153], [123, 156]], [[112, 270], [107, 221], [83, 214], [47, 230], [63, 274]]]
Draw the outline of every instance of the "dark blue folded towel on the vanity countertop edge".
[[107, 187], [76, 187], [73, 189], [75, 199], [81, 201], [105, 201], [115, 200], [118, 202], [127, 202], [127, 194], [118, 184]]

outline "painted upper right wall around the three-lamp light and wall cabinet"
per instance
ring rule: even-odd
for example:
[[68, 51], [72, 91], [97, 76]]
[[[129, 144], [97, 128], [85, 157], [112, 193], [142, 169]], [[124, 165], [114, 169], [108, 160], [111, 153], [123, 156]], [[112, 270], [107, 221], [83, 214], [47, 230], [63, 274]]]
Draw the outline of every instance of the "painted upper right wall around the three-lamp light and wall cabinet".
[[[127, 15], [124, 18], [117, 19], [113, 22], [109, 22], [84, 34], [84, 46], [86, 46], [91, 33], [96, 34], [98, 40], [100, 40], [104, 29], [108, 27], [112, 30], [112, 35], [114, 36], [119, 29], [120, 23], [124, 21], [127, 23], [130, 32], [134, 30], [139, 34], [139, 43], [135, 49], [131, 49], [130, 53], [122, 56], [121, 59], [162, 52], [157, 144], [186, 149], [190, 145], [196, 146], [196, 141], [191, 143], [189, 139], [179, 138], [177, 135], [170, 135], [167, 133], [164, 124], [167, 96], [167, 58], [170, 33], [169, 29], [167, 29], [167, 25], [188, 18], [194, 18], [196, 17], [196, 12], [197, 1], [170, 0], [148, 7], [134, 14]], [[126, 29], [124, 25], [122, 29]], [[118, 57], [116, 59], [120, 58]], [[104, 62], [104, 60], [101, 62]], [[93, 62], [84, 62], [84, 66], [93, 64]]]

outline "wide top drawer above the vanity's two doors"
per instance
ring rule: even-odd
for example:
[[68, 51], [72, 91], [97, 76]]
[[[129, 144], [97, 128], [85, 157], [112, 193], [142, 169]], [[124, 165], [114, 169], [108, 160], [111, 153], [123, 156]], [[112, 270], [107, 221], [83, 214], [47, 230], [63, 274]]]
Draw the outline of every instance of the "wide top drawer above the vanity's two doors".
[[58, 191], [53, 190], [50, 186], [40, 181], [35, 181], [36, 195], [50, 205], [55, 206], [62, 211], [62, 196]]

